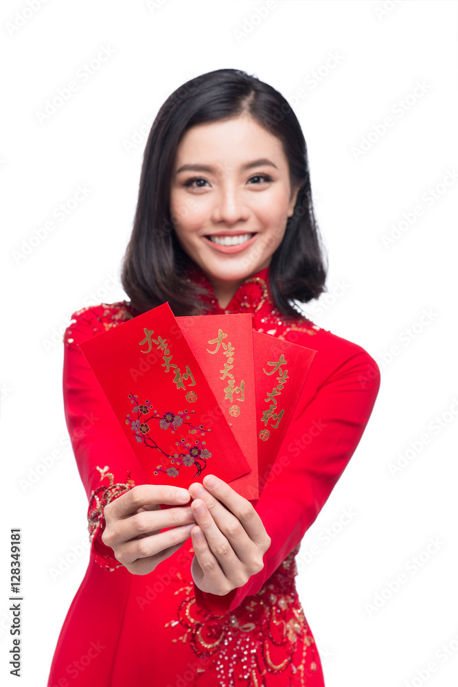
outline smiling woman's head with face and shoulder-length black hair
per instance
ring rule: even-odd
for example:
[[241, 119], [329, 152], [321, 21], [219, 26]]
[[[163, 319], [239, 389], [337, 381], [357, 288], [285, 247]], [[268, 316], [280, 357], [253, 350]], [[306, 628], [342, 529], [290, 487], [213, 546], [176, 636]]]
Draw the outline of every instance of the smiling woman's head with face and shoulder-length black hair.
[[[233, 256], [217, 252], [219, 234], [240, 233], [255, 236]], [[197, 259], [204, 248], [208, 265]], [[207, 284], [188, 280], [196, 266]], [[122, 284], [139, 312], [168, 301], [175, 315], [190, 315], [211, 309], [209, 286], [224, 307], [264, 267], [282, 315], [300, 317], [294, 302], [325, 291], [306, 141], [281, 93], [218, 69], [172, 93], [152, 124]]]

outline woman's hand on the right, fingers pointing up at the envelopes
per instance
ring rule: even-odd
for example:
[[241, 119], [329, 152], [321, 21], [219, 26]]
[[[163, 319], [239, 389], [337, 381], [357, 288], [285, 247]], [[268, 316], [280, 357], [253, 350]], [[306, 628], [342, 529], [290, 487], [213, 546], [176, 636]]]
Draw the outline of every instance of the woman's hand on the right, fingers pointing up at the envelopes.
[[218, 477], [206, 475], [189, 491], [197, 523], [192, 577], [203, 592], [224, 596], [262, 570], [271, 538], [251, 503]]

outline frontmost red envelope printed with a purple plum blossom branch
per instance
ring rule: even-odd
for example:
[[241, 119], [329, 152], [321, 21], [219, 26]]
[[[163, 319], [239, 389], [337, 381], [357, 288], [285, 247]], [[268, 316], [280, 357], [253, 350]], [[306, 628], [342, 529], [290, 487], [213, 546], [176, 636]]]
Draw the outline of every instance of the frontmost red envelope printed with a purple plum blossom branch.
[[[250, 467], [168, 303], [84, 341], [87, 358], [150, 484], [187, 488]], [[213, 425], [213, 426], [211, 426]]]

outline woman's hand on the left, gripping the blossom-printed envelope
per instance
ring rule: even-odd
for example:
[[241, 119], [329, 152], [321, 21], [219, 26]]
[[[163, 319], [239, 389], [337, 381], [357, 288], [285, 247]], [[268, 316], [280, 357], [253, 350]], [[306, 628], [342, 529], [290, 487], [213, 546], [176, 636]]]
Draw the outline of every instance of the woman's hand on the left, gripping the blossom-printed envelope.
[[[134, 486], [105, 506], [102, 541], [129, 572], [147, 575], [190, 537], [196, 520], [191, 508], [183, 507], [189, 500], [187, 489], [176, 486]], [[159, 504], [181, 507], [161, 509]]]

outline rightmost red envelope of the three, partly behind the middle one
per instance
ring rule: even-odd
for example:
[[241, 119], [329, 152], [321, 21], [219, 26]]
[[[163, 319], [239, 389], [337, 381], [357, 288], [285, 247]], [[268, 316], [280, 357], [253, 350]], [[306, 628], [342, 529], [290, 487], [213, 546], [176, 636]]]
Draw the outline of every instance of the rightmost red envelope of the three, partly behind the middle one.
[[271, 474], [316, 352], [253, 331], [259, 493]]

